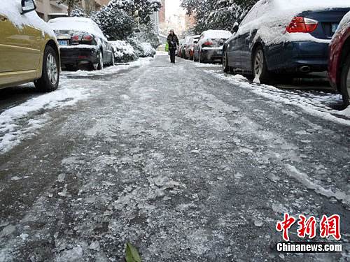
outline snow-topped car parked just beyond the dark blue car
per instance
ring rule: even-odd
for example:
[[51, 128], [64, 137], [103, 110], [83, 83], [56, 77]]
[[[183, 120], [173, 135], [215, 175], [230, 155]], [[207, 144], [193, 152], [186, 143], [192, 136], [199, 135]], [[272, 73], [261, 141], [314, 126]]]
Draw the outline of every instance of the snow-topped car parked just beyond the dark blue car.
[[207, 30], [200, 35], [198, 43], [194, 46], [193, 60], [221, 61], [223, 57], [223, 44], [232, 36], [226, 30]]

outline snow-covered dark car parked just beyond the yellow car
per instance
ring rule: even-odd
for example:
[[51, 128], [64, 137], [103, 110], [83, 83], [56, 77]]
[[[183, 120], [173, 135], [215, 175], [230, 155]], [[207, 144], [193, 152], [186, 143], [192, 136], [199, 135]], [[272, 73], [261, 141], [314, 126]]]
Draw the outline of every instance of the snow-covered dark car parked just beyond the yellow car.
[[60, 17], [48, 22], [55, 31], [61, 64], [69, 70], [88, 66], [94, 70], [114, 64], [113, 48], [90, 18]]

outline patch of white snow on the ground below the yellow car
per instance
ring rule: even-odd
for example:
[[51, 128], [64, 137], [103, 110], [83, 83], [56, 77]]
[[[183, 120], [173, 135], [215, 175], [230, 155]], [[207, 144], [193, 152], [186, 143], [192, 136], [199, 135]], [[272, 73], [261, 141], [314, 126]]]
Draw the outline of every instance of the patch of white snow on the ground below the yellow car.
[[73, 105], [88, 96], [82, 88], [63, 88], [3, 111], [0, 114], [0, 154], [19, 145], [25, 138], [33, 136], [34, 131], [47, 122], [46, 113], [43, 117], [40, 114], [36, 115], [36, 112]]

